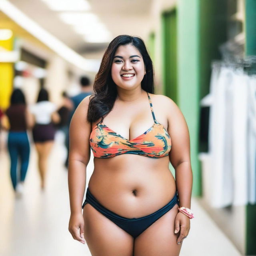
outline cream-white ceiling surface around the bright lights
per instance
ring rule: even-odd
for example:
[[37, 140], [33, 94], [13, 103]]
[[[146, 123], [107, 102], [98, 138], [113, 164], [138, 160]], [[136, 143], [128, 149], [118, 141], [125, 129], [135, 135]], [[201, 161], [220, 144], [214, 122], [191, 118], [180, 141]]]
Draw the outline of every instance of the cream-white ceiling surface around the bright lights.
[[[54, 1], [54, 0], [53, 0]], [[84, 56], [102, 52], [106, 43], [88, 43], [72, 26], [62, 22], [56, 12], [41, 0], [9, 0], [42, 28]], [[88, 0], [91, 12], [98, 15], [113, 38], [120, 34], [148, 36], [148, 17], [152, 0]], [[89, 26], [89, 24], [84, 24]]]

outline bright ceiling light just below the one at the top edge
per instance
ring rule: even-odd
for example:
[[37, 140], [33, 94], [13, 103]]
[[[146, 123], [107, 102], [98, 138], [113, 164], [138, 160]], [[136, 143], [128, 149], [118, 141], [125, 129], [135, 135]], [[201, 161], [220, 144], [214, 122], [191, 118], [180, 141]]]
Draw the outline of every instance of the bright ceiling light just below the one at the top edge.
[[99, 21], [98, 17], [92, 13], [62, 12], [59, 16], [63, 22], [71, 25], [85, 25]]

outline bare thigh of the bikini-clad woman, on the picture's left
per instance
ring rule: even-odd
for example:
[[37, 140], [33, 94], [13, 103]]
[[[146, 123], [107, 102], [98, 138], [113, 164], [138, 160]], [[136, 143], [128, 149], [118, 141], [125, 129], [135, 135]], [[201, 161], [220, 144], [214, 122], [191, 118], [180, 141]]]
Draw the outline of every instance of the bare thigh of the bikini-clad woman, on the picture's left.
[[90, 204], [84, 206], [84, 238], [92, 256], [132, 256], [133, 237]]

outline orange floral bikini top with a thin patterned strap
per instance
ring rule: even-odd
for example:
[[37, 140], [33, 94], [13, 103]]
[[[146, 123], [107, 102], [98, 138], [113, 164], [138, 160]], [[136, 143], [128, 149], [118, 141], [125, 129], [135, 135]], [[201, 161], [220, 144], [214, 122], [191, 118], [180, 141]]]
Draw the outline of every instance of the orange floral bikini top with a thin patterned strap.
[[156, 121], [149, 95], [148, 100], [154, 124], [136, 138], [127, 140], [117, 134], [103, 124], [103, 118], [92, 128], [90, 147], [94, 157], [110, 158], [121, 154], [136, 154], [152, 158], [168, 156], [172, 146], [170, 135], [164, 126]]

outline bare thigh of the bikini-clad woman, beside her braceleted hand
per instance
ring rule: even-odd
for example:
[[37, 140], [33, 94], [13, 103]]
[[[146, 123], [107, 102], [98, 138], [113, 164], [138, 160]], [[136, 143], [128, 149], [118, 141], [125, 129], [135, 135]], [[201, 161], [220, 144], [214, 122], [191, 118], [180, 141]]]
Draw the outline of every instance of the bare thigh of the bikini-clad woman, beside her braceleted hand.
[[134, 240], [134, 256], [178, 256], [181, 244], [177, 244], [178, 234], [174, 234], [174, 220], [178, 204]]

